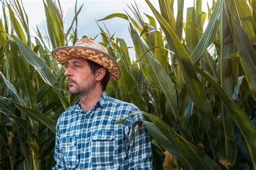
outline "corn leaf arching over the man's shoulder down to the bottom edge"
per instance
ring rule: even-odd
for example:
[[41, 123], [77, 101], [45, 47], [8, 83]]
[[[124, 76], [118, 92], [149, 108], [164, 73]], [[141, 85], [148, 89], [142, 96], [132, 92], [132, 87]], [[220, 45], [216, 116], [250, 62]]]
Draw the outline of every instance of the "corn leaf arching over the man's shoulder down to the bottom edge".
[[[169, 151], [174, 157], [182, 160], [186, 169], [221, 169], [211, 158], [201, 152], [199, 148], [186, 141], [170, 126], [161, 121], [161, 119], [144, 111], [134, 111], [128, 117], [134, 114], [143, 114], [146, 119], [143, 123], [150, 134], [165, 150]], [[128, 117], [115, 123], [124, 123]], [[173, 141], [174, 144], [170, 144]]]

